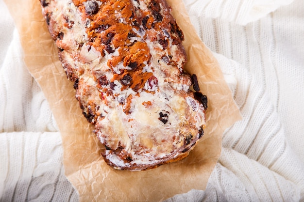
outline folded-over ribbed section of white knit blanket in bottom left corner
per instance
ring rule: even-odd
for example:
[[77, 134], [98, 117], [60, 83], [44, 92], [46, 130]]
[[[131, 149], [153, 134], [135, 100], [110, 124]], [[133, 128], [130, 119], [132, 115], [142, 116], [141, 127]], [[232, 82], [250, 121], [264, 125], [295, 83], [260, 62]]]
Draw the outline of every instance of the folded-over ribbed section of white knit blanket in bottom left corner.
[[59, 132], [0, 135], [0, 202], [78, 201], [64, 176]]

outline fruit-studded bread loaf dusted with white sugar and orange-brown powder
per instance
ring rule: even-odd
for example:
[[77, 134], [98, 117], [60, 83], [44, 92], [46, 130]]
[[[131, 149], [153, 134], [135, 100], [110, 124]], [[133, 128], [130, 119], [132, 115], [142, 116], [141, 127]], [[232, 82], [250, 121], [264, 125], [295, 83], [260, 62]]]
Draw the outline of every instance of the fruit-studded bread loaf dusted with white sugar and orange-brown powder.
[[207, 98], [183, 70], [184, 35], [167, 2], [40, 2], [106, 163], [147, 170], [186, 157], [203, 136]]

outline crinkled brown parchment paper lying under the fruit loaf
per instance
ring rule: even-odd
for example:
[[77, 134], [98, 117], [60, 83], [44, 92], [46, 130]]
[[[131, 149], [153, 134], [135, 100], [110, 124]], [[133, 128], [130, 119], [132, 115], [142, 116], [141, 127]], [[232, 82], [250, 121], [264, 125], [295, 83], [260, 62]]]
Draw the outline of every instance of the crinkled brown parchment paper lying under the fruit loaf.
[[39, 0], [4, 0], [15, 20], [24, 61], [39, 83], [61, 132], [65, 174], [78, 190], [80, 201], [162, 201], [191, 189], [205, 189], [220, 156], [223, 131], [239, 120], [232, 93], [218, 62], [191, 25], [182, 0], [168, 0], [184, 31], [188, 62], [208, 97], [204, 136], [190, 155], [148, 171], [118, 171], [105, 164], [103, 146], [93, 134], [75, 99], [41, 14]]

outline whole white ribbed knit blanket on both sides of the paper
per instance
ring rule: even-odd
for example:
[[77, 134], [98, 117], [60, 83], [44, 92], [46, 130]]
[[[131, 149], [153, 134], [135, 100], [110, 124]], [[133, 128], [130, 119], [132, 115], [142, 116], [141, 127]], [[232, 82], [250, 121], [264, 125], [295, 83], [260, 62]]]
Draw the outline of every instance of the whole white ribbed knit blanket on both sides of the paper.
[[[304, 1], [184, 0], [243, 120], [206, 190], [167, 202], [304, 201]], [[0, 0], [0, 202], [78, 201], [58, 128]]]

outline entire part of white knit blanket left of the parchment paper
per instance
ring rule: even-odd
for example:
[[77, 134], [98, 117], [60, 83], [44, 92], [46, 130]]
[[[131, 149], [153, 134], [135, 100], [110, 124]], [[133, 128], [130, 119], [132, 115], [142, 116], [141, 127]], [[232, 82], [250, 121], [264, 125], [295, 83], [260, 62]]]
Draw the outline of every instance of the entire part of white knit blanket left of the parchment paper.
[[60, 133], [2, 0], [0, 11], [0, 202], [77, 202]]

